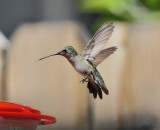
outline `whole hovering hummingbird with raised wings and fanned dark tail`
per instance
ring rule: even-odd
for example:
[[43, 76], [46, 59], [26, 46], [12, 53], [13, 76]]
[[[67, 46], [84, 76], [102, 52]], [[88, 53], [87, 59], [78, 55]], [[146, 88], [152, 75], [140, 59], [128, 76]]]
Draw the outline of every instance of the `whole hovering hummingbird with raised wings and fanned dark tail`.
[[61, 51], [40, 58], [39, 60], [55, 55], [64, 56], [74, 69], [84, 76], [81, 82], [88, 83], [87, 88], [89, 89], [89, 93], [93, 94], [94, 99], [97, 98], [97, 94], [102, 99], [102, 91], [106, 95], [109, 94], [109, 91], [96, 67], [117, 49], [116, 46], [104, 49], [111, 37], [113, 29], [114, 25], [112, 21], [104, 23], [87, 43], [81, 54], [78, 54], [72, 46], [67, 46]]

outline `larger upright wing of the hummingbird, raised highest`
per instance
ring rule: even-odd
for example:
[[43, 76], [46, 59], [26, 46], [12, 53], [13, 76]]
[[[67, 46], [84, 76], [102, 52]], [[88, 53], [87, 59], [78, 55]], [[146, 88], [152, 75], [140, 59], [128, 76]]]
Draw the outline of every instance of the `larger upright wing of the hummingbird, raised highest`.
[[113, 28], [113, 22], [103, 24], [88, 42], [82, 55], [86, 59], [94, 59], [94, 57], [98, 55], [106, 46], [106, 43], [113, 32]]

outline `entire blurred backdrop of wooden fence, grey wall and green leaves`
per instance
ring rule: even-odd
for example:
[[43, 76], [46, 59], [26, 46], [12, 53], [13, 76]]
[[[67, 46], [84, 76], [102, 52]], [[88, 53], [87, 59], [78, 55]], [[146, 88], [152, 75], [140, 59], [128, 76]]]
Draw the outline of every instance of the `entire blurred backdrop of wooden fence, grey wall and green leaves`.
[[[82, 52], [105, 22], [118, 50], [98, 66], [110, 94], [93, 99], [60, 56]], [[0, 0], [0, 99], [54, 116], [38, 130], [160, 129], [159, 0]]]

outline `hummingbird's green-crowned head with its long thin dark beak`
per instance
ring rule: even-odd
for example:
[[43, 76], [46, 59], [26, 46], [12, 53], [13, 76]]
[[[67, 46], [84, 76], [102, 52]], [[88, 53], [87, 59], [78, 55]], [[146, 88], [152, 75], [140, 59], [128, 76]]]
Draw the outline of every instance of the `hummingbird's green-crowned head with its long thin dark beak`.
[[53, 53], [53, 54], [48, 55], [48, 56], [45, 56], [43, 58], [40, 58], [39, 60], [43, 60], [45, 58], [48, 58], [50, 56], [55, 56], [55, 55], [62, 55], [66, 58], [69, 58], [69, 57], [72, 57], [72, 56], [76, 56], [77, 52], [72, 46], [67, 46], [67, 47], [63, 48], [61, 51], [59, 51], [57, 53]]

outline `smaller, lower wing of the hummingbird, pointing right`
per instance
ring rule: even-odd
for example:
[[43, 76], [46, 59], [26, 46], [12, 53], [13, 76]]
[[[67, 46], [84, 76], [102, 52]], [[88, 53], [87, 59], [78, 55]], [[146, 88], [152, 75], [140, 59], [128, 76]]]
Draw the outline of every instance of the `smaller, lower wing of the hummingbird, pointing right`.
[[102, 61], [104, 61], [108, 56], [113, 54], [117, 50], [117, 47], [110, 47], [107, 49], [102, 50], [98, 55], [94, 57], [91, 62], [94, 64], [94, 66], [98, 66]]

